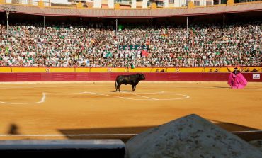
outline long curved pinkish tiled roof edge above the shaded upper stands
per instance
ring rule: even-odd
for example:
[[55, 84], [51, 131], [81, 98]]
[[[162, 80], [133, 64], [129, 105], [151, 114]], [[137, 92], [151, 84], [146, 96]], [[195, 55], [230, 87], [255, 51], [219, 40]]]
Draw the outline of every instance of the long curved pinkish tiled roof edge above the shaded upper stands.
[[[1, 7], [2, 6], [2, 7]], [[38, 16], [74, 16], [74, 17], [101, 17], [101, 18], [160, 18], [175, 16], [201, 16], [227, 13], [243, 13], [262, 11], [262, 1], [248, 2], [233, 5], [195, 6], [194, 8], [166, 8], [166, 9], [79, 9], [70, 7], [38, 7], [22, 4], [0, 4], [13, 6], [15, 13]]]

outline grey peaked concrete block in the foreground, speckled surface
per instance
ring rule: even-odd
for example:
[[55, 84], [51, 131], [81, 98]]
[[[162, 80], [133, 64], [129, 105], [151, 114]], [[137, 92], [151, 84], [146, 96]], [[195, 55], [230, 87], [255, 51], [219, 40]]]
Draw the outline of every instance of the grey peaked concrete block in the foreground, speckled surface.
[[262, 153], [210, 121], [188, 115], [132, 137], [125, 157], [261, 158]]

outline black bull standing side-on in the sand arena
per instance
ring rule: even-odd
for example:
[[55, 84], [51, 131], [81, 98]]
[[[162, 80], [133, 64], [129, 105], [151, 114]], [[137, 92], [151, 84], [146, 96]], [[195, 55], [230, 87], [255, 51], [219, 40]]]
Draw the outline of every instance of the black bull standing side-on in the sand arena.
[[140, 80], [144, 79], [146, 79], [144, 74], [119, 75], [115, 79], [115, 91], [120, 91], [121, 84], [131, 84], [132, 91], [135, 91], [135, 86], [137, 86]]

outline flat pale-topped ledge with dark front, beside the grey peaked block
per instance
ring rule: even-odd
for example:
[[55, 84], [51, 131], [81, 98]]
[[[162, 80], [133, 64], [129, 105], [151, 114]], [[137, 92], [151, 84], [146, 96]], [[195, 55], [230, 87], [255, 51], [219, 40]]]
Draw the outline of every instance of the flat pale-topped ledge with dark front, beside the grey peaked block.
[[125, 156], [121, 140], [0, 140], [1, 157], [112, 157]]

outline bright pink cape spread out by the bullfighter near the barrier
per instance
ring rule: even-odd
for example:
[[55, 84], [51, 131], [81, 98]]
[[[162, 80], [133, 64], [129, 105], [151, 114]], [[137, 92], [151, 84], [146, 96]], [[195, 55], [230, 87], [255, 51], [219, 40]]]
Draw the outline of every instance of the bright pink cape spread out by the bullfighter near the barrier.
[[229, 84], [232, 89], [243, 89], [246, 86], [247, 81], [241, 73], [237, 75], [230, 73], [227, 84]]

